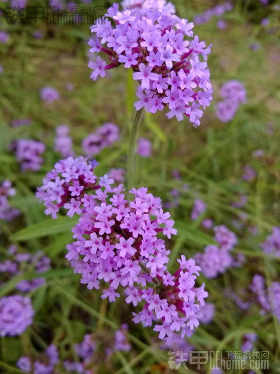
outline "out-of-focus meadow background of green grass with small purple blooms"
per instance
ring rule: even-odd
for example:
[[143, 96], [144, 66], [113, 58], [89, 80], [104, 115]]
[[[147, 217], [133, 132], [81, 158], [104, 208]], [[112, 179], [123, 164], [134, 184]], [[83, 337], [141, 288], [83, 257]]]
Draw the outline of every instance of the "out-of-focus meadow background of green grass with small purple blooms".
[[[94, 82], [87, 67], [91, 18], [86, 17], [104, 14], [112, 3], [70, 4], [62, 12], [86, 12], [80, 25], [47, 18], [42, 9], [55, 1], [0, 1], [0, 182], [10, 182], [0, 187], [0, 194], [8, 195], [8, 203], [3, 198], [0, 205], [0, 297], [27, 295], [35, 310], [24, 334], [0, 338], [1, 373], [26, 372], [17, 366], [20, 357], [47, 363], [50, 344], [57, 346], [60, 361], [49, 373], [171, 372], [167, 350], [152, 329], [132, 322], [131, 304], [108, 303], [101, 292], [79, 283], [65, 259], [72, 221], [62, 217], [55, 226], [35, 198], [54, 163], [74, 154], [94, 156], [99, 176], [126, 183], [137, 83], [121, 67]], [[255, 274], [268, 285], [279, 281], [279, 254], [266, 253], [262, 243], [280, 226], [280, 3], [236, 0], [223, 11], [217, 8], [222, 1], [173, 3], [179, 17], [194, 22], [195, 35], [212, 44], [213, 100], [196, 129], [188, 119], [167, 119], [166, 111], [145, 113], [136, 187], [160, 196], [176, 222], [178, 234], [168, 243], [170, 271], [179, 255], [190, 258], [213, 244], [213, 226], [221, 224], [238, 238], [232, 256], [239, 261], [214, 279], [202, 274], [211, 318], [181, 350], [241, 351], [246, 334], [255, 334], [248, 350], [269, 352], [270, 369], [251, 373], [280, 373], [280, 321], [270, 311], [262, 313], [250, 288]], [[243, 85], [245, 99], [225, 117], [219, 111], [221, 87], [230, 80]], [[115, 125], [114, 136], [89, 150], [88, 137], [106, 122]], [[280, 250], [280, 234], [273, 240]], [[38, 272], [41, 281], [35, 281]], [[18, 287], [22, 281], [29, 283]], [[85, 358], [80, 352], [86, 349]], [[209, 365], [190, 365], [192, 370], [211, 372]]]

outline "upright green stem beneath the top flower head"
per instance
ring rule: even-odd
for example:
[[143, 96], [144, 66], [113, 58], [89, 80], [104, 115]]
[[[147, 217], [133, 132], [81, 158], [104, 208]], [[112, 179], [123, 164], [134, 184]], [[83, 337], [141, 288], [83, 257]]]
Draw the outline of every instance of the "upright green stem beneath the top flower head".
[[143, 117], [144, 108], [141, 108], [135, 113], [134, 122], [132, 126], [132, 131], [130, 134], [129, 148], [127, 153], [127, 187], [130, 191], [134, 187], [134, 158], [135, 158], [135, 149], [137, 143], [137, 137], [140, 129], [140, 124]]

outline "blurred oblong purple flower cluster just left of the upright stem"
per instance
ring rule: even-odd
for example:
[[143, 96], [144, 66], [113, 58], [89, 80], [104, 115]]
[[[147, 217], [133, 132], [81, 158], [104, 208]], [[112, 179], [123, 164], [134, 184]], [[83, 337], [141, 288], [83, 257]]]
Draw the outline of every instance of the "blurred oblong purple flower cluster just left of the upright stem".
[[119, 140], [119, 128], [111, 122], [105, 122], [94, 133], [88, 135], [82, 143], [87, 156], [94, 156], [104, 148], [111, 147]]

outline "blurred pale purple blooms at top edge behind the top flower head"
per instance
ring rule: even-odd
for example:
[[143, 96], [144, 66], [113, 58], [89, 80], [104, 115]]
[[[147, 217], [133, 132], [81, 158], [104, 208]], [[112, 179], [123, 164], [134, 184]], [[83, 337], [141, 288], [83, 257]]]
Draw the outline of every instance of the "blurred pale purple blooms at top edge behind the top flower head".
[[121, 5], [124, 9], [155, 9], [164, 14], [174, 14], [175, 6], [166, 0], [123, 0]]

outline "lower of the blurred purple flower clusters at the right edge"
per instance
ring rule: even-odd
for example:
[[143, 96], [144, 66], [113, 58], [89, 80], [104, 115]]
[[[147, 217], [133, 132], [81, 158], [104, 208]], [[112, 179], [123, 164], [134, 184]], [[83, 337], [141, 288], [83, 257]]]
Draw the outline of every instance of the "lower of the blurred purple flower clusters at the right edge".
[[261, 314], [271, 312], [280, 323], [280, 282], [273, 282], [270, 287], [266, 288], [264, 277], [255, 274], [250, 290], [256, 294], [257, 300], [262, 307]]

